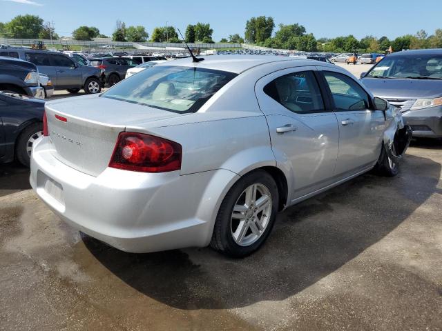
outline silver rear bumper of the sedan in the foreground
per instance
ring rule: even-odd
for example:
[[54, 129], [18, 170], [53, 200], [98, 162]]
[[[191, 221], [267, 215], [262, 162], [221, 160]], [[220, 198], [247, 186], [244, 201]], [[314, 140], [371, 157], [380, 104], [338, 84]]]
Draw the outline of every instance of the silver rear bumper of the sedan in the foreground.
[[32, 150], [30, 183], [66, 223], [119, 250], [155, 252], [209, 244], [229, 170], [181, 176], [106, 168], [98, 177], [61, 163], [50, 139]]

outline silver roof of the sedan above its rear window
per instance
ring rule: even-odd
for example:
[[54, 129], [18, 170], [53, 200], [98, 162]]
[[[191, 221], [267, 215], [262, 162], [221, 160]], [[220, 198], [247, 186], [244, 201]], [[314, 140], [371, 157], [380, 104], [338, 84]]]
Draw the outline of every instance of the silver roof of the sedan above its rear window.
[[[167, 61], [167, 63], [159, 63], [157, 66], [186, 66], [240, 74], [257, 66], [282, 61], [291, 61], [291, 63], [294, 63], [293, 66], [296, 67], [312, 66], [312, 61], [314, 60], [297, 59], [296, 57], [277, 57], [275, 55], [208, 55], [204, 57], [204, 61], [198, 63], [193, 62], [191, 57], [186, 57], [184, 59]], [[313, 65], [318, 66], [317, 63], [318, 61], [315, 61]]]

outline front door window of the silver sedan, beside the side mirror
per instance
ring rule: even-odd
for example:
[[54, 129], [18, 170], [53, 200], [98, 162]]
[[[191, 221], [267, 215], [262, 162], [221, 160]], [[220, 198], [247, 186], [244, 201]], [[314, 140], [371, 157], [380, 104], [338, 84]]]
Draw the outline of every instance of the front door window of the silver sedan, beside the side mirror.
[[369, 98], [356, 81], [337, 72], [324, 72], [336, 110], [365, 110], [369, 108]]

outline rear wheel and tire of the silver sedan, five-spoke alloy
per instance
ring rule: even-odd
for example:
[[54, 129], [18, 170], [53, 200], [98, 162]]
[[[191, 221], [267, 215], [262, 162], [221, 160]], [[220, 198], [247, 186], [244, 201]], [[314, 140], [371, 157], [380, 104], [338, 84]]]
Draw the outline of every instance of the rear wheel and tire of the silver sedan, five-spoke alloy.
[[[253, 195], [254, 201], [249, 199]], [[260, 207], [255, 204], [258, 201], [262, 203]], [[256, 170], [241, 177], [220, 205], [211, 248], [236, 258], [258, 250], [273, 228], [278, 203], [278, 187], [268, 172]]]

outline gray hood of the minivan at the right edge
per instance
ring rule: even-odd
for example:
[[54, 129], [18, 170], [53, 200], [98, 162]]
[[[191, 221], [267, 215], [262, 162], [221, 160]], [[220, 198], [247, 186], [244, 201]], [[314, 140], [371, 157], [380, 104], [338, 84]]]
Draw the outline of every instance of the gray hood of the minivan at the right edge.
[[376, 97], [385, 99], [430, 99], [442, 96], [442, 80], [363, 78]]

